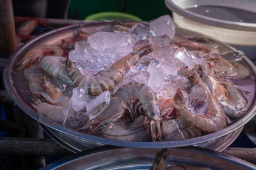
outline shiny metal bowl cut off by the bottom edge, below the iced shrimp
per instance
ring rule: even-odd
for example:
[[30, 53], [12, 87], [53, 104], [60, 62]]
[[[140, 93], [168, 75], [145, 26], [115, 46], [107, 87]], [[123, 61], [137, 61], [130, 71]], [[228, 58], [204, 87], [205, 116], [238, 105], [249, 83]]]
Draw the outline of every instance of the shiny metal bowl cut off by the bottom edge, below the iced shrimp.
[[[96, 148], [57, 160], [44, 169], [150, 169], [159, 149]], [[255, 169], [256, 166], [230, 155], [189, 146], [168, 148], [168, 164], [202, 166], [211, 169]]]

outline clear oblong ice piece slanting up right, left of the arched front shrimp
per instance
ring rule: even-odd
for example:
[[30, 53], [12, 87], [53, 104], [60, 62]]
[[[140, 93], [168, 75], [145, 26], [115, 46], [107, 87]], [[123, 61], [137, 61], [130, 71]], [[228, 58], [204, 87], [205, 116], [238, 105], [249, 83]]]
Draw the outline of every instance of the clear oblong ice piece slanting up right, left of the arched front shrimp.
[[[90, 120], [97, 117], [110, 103], [111, 94], [109, 91], [102, 92], [95, 99], [86, 104], [86, 115]], [[100, 108], [100, 109], [99, 109]], [[95, 111], [96, 110], [96, 111]]]

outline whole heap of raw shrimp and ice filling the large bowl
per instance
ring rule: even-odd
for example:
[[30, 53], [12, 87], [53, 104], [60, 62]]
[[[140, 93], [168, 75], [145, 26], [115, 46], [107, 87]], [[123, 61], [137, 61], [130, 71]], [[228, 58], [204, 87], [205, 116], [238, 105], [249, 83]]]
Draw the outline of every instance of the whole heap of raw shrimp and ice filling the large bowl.
[[175, 36], [168, 15], [78, 33], [16, 63], [42, 117], [104, 138], [172, 141], [219, 131], [246, 112], [235, 80], [250, 71], [207, 38]]

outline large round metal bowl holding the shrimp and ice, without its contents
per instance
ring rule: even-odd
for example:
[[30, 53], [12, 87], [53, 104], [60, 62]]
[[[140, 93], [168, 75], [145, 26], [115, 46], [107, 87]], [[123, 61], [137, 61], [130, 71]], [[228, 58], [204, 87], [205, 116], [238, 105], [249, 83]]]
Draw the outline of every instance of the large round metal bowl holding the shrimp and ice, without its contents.
[[[179, 147], [179, 146], [189, 146], [189, 145], [198, 145], [204, 147], [205, 145], [209, 145], [209, 148], [216, 149], [214, 146], [214, 141], [218, 144], [217, 148], [221, 148], [221, 150], [225, 149], [234, 139], [236, 139], [237, 135], [243, 128], [243, 125], [246, 124], [251, 118], [254, 117], [256, 113], [255, 106], [255, 84], [253, 85], [253, 92], [251, 95], [251, 101], [248, 103], [247, 113], [242, 117], [238, 118], [232, 124], [229, 124], [224, 129], [221, 129], [218, 132], [213, 132], [211, 134], [207, 134], [204, 136], [200, 136], [197, 138], [184, 139], [180, 141], [164, 141], [164, 142], [132, 142], [132, 141], [118, 141], [114, 139], [101, 138], [99, 136], [93, 136], [90, 134], [84, 134], [82, 132], [74, 131], [72, 129], [68, 129], [61, 124], [56, 124], [51, 119], [40, 116], [36, 113], [35, 109], [30, 104], [30, 97], [28, 94], [28, 83], [24, 78], [22, 72], [17, 71], [15, 68], [15, 63], [19, 61], [29, 49], [36, 45], [42, 44], [58, 44], [61, 39], [66, 39], [70, 37], [77, 36], [77, 29], [83, 26], [83, 29], [88, 32], [88, 34], [92, 34], [97, 31], [110, 31], [111, 27], [118, 22], [90, 22], [86, 24], [76, 24], [70, 25], [67, 27], [63, 27], [60, 29], [56, 29], [54, 31], [46, 32], [34, 39], [31, 39], [26, 44], [24, 44], [19, 50], [13, 53], [13, 55], [8, 59], [6, 67], [4, 68], [4, 84], [6, 90], [12, 97], [13, 101], [29, 116], [35, 118], [38, 122], [42, 123], [52, 131], [52, 138], [56, 138], [57, 141], [62, 141], [63, 146], [65, 144], [70, 145], [67, 148], [74, 148], [74, 152], [79, 150], [84, 150], [86, 148], [92, 148], [95, 146], [104, 145], [114, 145], [114, 146], [124, 146], [124, 147], [138, 147], [138, 148], [170, 148], [170, 147]], [[126, 22], [129, 24], [129, 22]], [[184, 29], [177, 28], [177, 35], [182, 36], [198, 36], [195, 32], [186, 31]], [[212, 40], [212, 42], [218, 46], [220, 46], [221, 53], [230, 52], [230, 50], [236, 51], [236, 49], [231, 46], [225, 45], [218, 41]], [[243, 64], [250, 69], [252, 76], [256, 77], [256, 67], [254, 64], [247, 58], [243, 57], [241, 61]], [[235, 132], [237, 131], [237, 132]], [[55, 136], [57, 132], [59, 135]], [[225, 136], [230, 135], [228, 140]], [[54, 137], [55, 136], [55, 137]], [[58, 139], [57, 139], [58, 138]], [[66, 139], [71, 139], [67, 140]], [[227, 140], [227, 141], [226, 141]], [[83, 147], [77, 149], [77, 143], [79, 145], [83, 145]], [[88, 143], [92, 145], [88, 145]], [[224, 148], [223, 148], [224, 146]]]

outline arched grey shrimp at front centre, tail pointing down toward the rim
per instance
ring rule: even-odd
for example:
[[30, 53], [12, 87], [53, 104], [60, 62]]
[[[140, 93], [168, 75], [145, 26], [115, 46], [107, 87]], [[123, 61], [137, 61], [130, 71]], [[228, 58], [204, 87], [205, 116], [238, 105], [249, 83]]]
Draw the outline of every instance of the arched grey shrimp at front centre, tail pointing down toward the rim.
[[132, 119], [136, 118], [138, 113], [149, 118], [153, 141], [161, 137], [161, 112], [154, 92], [147, 85], [135, 81], [120, 87], [100, 115], [90, 120], [82, 129], [88, 129], [93, 124], [113, 124], [124, 116], [125, 110], [129, 110]]

